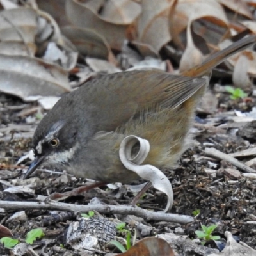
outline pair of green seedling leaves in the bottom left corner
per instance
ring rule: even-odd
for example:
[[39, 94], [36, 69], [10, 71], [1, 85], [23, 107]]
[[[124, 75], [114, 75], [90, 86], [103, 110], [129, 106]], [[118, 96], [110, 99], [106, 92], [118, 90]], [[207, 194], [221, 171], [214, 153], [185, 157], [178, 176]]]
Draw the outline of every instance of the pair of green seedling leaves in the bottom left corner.
[[[41, 238], [43, 236], [44, 236], [43, 230], [41, 228], [35, 228], [35, 229], [30, 230], [26, 234], [25, 241], [28, 244], [33, 244], [37, 238]], [[19, 240], [12, 239], [10, 237], [3, 237], [0, 239], [0, 243], [3, 243], [5, 248], [13, 248], [16, 244], [19, 243]]]

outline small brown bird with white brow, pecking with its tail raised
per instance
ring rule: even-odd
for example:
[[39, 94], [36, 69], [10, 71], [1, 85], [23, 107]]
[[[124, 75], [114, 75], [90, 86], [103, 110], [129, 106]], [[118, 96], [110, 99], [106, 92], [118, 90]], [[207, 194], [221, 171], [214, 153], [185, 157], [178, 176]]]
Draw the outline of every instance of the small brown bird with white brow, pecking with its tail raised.
[[191, 77], [211, 72], [253, 43], [255, 36], [240, 40], [179, 76], [120, 72], [100, 76], [64, 95], [35, 131], [35, 160], [25, 178], [45, 163], [101, 182], [136, 180], [138, 175], [123, 166], [118, 154], [128, 135], [149, 141], [143, 164], [172, 167], [189, 147], [196, 104], [209, 84], [208, 77]]

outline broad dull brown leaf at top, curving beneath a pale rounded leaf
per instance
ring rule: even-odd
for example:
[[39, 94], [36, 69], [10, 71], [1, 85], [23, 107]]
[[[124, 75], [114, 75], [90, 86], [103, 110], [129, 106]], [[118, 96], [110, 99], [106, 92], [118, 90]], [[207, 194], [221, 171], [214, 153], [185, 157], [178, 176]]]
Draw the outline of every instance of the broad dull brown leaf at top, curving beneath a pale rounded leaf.
[[[102, 5], [99, 1], [86, 1], [81, 3], [78, 0], [66, 1], [66, 12], [72, 23], [80, 28], [93, 29], [102, 37], [106, 38], [112, 49], [120, 50], [125, 40], [127, 24], [115, 24], [106, 17], [98, 14], [98, 9]], [[136, 10], [140, 8], [136, 4]], [[102, 11], [103, 12], [103, 11]], [[138, 13], [134, 10], [134, 12]], [[134, 16], [134, 19], [136, 17]], [[113, 19], [113, 17], [111, 17]]]

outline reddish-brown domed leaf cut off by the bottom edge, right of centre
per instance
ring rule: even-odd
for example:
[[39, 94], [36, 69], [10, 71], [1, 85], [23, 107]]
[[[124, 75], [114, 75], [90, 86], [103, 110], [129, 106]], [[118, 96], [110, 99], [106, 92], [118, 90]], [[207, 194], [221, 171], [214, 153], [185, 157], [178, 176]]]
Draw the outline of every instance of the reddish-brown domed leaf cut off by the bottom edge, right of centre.
[[120, 256], [174, 256], [170, 245], [163, 239], [146, 237], [132, 246], [127, 252], [118, 254]]

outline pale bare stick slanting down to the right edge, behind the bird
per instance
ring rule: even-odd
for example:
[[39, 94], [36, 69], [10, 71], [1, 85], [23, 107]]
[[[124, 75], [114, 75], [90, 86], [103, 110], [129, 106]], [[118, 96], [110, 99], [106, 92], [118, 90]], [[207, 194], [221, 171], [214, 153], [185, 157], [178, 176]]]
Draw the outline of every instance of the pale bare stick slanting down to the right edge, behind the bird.
[[205, 148], [204, 152], [209, 156], [213, 156], [218, 159], [228, 161], [229, 163], [233, 164], [234, 166], [243, 170], [244, 172], [256, 173], [256, 170], [254, 170], [253, 168], [246, 166], [244, 163], [238, 161], [236, 158], [232, 156], [228, 156], [227, 154], [220, 152], [216, 148]]

